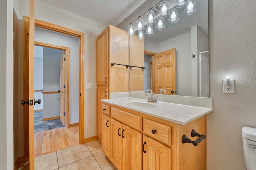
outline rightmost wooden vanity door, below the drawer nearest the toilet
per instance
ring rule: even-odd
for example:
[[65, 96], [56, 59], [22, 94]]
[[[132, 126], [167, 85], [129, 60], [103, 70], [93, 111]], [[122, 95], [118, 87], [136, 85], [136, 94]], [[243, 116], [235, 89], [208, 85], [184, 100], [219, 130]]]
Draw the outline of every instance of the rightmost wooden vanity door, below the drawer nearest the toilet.
[[171, 170], [172, 149], [147, 136], [143, 136], [143, 140], [143, 169]]

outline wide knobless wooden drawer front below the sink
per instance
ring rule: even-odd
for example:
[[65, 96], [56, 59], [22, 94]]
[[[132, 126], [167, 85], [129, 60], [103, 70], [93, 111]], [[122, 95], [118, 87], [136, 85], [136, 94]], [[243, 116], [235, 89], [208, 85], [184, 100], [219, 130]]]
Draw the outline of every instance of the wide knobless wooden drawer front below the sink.
[[111, 107], [111, 117], [125, 125], [142, 131], [142, 117]]

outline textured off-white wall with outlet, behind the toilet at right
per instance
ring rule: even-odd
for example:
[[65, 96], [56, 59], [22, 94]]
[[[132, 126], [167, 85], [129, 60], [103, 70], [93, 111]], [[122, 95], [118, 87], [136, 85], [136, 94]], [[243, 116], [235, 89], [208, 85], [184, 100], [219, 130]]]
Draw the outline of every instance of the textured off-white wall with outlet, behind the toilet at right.
[[[209, 0], [207, 170], [245, 170], [242, 127], [256, 128], [256, 1]], [[226, 75], [235, 93], [223, 93]]]

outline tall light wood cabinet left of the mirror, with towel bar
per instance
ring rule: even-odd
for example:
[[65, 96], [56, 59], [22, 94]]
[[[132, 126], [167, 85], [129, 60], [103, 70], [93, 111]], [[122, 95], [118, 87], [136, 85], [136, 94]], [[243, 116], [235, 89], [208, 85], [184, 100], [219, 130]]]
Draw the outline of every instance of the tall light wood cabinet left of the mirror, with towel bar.
[[[108, 89], [106, 96], [97, 95], [97, 138], [102, 142], [102, 102], [112, 92], [129, 91], [129, 68], [111, 63], [129, 64], [128, 33], [108, 26], [97, 37], [97, 89]], [[101, 91], [102, 92], [102, 91]], [[100, 93], [101, 93], [100, 92]], [[102, 98], [103, 97], [103, 98]]]

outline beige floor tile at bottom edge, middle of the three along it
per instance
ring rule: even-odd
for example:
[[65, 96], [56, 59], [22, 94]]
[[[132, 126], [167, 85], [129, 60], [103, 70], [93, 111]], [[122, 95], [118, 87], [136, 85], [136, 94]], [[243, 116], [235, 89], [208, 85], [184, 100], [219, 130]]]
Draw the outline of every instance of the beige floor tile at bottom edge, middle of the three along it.
[[59, 168], [59, 170], [101, 170], [93, 156], [78, 160]]

